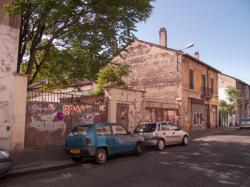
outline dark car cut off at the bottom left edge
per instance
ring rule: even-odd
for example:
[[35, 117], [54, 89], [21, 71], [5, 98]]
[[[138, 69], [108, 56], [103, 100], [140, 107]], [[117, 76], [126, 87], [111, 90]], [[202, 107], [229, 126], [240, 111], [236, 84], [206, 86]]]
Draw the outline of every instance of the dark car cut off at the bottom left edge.
[[0, 177], [3, 177], [12, 166], [12, 158], [8, 151], [0, 148]]

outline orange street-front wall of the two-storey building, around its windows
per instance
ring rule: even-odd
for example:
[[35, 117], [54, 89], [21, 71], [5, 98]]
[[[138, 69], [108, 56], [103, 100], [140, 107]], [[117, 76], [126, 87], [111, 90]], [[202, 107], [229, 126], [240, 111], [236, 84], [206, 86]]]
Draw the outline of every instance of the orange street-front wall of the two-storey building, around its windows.
[[[189, 70], [194, 72], [194, 89], [189, 89]], [[202, 105], [207, 105], [207, 112], [204, 109], [201, 111], [204, 113], [203, 116], [207, 116], [205, 120], [207, 127], [215, 127], [218, 123], [218, 73], [214, 70], [207, 68], [189, 58], [184, 57], [182, 61], [182, 79], [183, 79], [183, 92], [182, 92], [182, 125], [184, 128], [192, 129], [195, 125], [195, 115], [192, 109], [197, 106], [192, 106], [191, 98], [201, 100]], [[209, 92], [211, 88], [210, 78], [214, 79], [214, 93], [209, 97], [202, 96], [202, 74], [206, 76], [206, 89]], [[212, 108], [212, 106], [214, 106]], [[216, 106], [216, 107], [215, 107]], [[204, 107], [202, 107], [204, 108]], [[210, 117], [211, 116], [211, 117]]]

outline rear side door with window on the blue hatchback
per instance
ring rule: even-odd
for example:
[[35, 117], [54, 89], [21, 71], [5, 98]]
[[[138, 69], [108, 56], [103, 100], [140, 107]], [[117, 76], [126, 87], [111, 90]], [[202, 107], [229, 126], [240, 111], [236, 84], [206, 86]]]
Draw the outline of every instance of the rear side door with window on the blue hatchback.
[[107, 147], [110, 154], [115, 153], [114, 136], [110, 124], [103, 124], [96, 127], [97, 147]]

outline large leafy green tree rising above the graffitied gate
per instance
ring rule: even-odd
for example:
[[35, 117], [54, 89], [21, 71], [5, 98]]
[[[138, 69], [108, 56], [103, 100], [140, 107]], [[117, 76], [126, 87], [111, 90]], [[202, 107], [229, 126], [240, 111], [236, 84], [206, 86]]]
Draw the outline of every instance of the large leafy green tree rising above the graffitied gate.
[[150, 2], [14, 0], [6, 9], [21, 14], [17, 72], [30, 75], [29, 84], [48, 78], [58, 86], [56, 77], [65, 84], [94, 80], [112, 55], [134, 38], [136, 23], [150, 16]]

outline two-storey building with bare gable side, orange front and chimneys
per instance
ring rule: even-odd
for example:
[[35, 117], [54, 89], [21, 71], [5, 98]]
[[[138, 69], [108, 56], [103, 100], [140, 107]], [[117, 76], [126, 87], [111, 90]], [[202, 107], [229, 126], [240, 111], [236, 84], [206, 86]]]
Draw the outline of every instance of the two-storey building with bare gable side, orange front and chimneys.
[[130, 88], [144, 90], [144, 121], [171, 120], [182, 128], [217, 125], [217, 69], [195, 57], [167, 47], [167, 32], [159, 32], [160, 44], [135, 39], [113, 58], [129, 65], [125, 81]]

